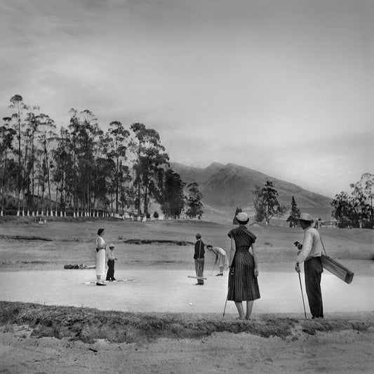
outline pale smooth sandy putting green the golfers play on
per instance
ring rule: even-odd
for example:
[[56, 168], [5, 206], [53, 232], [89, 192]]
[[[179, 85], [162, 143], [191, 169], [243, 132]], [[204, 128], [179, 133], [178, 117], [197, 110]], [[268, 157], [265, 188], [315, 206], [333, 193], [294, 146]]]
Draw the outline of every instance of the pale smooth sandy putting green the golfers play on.
[[[95, 281], [95, 269], [65, 269], [29, 272], [1, 272], [1, 300], [36, 302], [45, 305], [95, 307], [124, 312], [223, 312], [227, 294], [227, 272], [205, 272], [204, 286], [196, 286], [194, 272], [188, 269], [120, 269], [121, 282], [106, 287], [84, 284]], [[307, 312], [304, 276], [302, 288]], [[260, 300], [253, 313], [304, 313], [300, 281], [296, 272], [262, 272], [259, 276]], [[321, 287], [325, 313], [374, 310], [374, 276], [355, 276], [347, 284], [323, 273]], [[349, 300], [349, 302], [347, 302]], [[236, 314], [234, 302], [227, 302], [227, 314]]]

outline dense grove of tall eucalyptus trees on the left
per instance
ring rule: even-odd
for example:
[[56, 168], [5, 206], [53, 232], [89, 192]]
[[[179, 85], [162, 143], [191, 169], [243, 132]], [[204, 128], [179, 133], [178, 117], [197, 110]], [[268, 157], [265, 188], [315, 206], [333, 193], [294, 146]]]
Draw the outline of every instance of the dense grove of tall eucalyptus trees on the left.
[[154, 129], [112, 121], [102, 131], [90, 110], [74, 108], [58, 129], [21, 95], [10, 102], [0, 126], [1, 215], [149, 215], [153, 199], [167, 217], [201, 218], [199, 186], [185, 193]]

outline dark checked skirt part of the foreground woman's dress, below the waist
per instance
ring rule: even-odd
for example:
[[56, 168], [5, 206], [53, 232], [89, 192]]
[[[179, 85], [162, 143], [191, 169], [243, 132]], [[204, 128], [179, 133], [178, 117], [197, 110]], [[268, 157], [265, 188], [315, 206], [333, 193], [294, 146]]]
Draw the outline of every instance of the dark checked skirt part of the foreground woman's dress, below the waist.
[[[233, 274], [232, 274], [233, 273]], [[227, 300], [251, 301], [260, 298], [253, 255], [248, 248], [236, 250], [232, 271], [229, 273], [229, 291]]]

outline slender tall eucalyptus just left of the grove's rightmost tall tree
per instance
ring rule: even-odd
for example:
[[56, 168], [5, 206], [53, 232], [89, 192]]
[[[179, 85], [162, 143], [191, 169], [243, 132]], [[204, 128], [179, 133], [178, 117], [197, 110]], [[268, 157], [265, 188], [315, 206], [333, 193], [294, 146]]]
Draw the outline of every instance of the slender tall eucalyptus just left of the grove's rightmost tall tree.
[[112, 139], [111, 149], [108, 156], [114, 159], [116, 164], [116, 170], [114, 175], [114, 189], [116, 194], [116, 214], [119, 213], [119, 193], [121, 188], [121, 182], [125, 179], [125, 175], [128, 175], [128, 168], [123, 168], [123, 163], [126, 161], [127, 152], [127, 140], [130, 136], [130, 132], [123, 127], [119, 121], [112, 121], [109, 123], [108, 130], [109, 137]]

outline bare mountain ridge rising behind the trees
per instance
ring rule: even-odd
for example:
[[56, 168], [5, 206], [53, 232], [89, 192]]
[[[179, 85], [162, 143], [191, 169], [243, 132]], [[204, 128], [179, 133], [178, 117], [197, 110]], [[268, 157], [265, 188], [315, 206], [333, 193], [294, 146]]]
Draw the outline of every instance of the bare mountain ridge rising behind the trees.
[[171, 163], [173, 171], [180, 175], [188, 185], [196, 182], [203, 194], [203, 203], [213, 209], [235, 212], [236, 206], [254, 214], [253, 190], [255, 186], [263, 187], [269, 180], [274, 183], [279, 193], [278, 200], [282, 205], [290, 206], [292, 196], [300, 211], [308, 211], [316, 219], [330, 220], [332, 208], [328, 196], [316, 194], [307, 189], [272, 176], [255, 171], [235, 163], [211, 163], [206, 168], [185, 166], [182, 163]]

